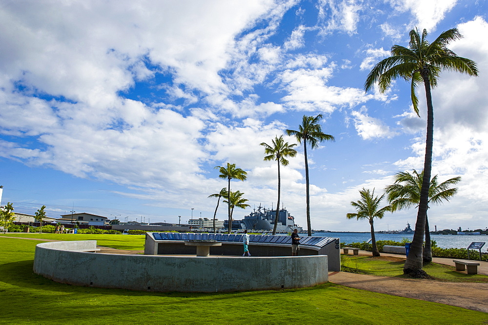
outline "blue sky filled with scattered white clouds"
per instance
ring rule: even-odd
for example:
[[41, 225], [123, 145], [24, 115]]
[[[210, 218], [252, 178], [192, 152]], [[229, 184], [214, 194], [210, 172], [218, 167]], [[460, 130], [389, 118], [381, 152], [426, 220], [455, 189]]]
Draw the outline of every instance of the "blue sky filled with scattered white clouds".
[[[488, 2], [485, 0], [0, 1], [1, 204], [47, 216], [88, 212], [182, 223], [212, 218], [226, 187], [251, 208], [277, 202], [275, 136], [322, 114], [335, 137], [308, 150], [313, 229], [368, 231], [348, 220], [362, 188], [381, 195], [400, 171], [423, 168], [425, 92], [366, 93], [371, 68], [413, 28], [478, 64], [443, 72], [432, 90], [432, 174], [461, 176], [458, 193], [428, 211], [432, 229], [488, 227]], [[485, 90], [483, 90], [485, 89]], [[306, 228], [303, 146], [282, 167], [281, 202]], [[387, 205], [386, 201], [383, 201]], [[192, 210], [194, 209], [194, 210]], [[414, 224], [415, 209], [375, 229]], [[226, 218], [220, 206], [217, 218]]]

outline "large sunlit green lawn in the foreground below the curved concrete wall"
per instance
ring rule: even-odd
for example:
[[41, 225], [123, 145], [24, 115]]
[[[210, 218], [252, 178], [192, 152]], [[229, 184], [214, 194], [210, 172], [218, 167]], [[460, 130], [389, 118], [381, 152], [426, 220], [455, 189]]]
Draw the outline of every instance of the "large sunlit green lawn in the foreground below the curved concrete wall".
[[[85, 236], [90, 235], [81, 236], [88, 239]], [[112, 237], [117, 235], [94, 236], [106, 238], [104, 245], [109, 247], [136, 246], [130, 243], [136, 236], [122, 235], [129, 241], [125, 244]], [[488, 322], [488, 314], [478, 311], [330, 283], [294, 290], [206, 294], [63, 285], [32, 272], [34, 249], [39, 243], [0, 238], [0, 323]]]

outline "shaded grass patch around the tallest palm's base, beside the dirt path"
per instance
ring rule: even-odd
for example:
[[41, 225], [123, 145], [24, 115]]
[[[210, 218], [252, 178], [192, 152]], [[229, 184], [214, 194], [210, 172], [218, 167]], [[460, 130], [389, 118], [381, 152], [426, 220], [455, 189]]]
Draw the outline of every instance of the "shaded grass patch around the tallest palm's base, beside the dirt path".
[[[346, 272], [394, 276], [409, 278], [403, 274], [405, 259], [390, 256], [372, 257], [365, 255], [341, 254], [342, 269]], [[483, 274], [465, 274], [457, 272], [454, 265], [448, 266], [430, 263], [424, 270], [435, 280], [449, 282], [488, 282], [488, 276]]]

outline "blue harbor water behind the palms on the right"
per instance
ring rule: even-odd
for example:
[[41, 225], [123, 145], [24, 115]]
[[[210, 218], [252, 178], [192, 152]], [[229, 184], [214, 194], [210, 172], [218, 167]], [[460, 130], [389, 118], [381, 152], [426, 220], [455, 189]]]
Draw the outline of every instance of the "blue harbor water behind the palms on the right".
[[[356, 233], [356, 232], [315, 232], [313, 236], [320, 237], [338, 237], [341, 239], [341, 243], [362, 243], [369, 238], [371, 234], [367, 233]], [[413, 239], [412, 235], [401, 235], [396, 233], [375, 233], [376, 240], [393, 240], [396, 242], [402, 241], [402, 238], [408, 238], [410, 241]], [[487, 235], [430, 235], [432, 240], [437, 242], [437, 246], [440, 248], [458, 248], [466, 249], [472, 242], [488, 242]], [[488, 249], [488, 244], [485, 244], [481, 249], [482, 252], [486, 252]]]

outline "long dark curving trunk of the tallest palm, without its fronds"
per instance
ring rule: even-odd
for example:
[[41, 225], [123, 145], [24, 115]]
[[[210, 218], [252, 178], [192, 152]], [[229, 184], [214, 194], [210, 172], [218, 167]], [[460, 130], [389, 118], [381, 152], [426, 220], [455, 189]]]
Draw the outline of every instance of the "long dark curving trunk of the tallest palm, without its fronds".
[[427, 136], [426, 136], [426, 154], [424, 159], [424, 178], [422, 179], [422, 190], [420, 191], [420, 204], [417, 213], [417, 222], [415, 223], [415, 233], [413, 235], [410, 252], [403, 267], [404, 274], [411, 274], [415, 277], [425, 277], [427, 273], [422, 271], [423, 266], [423, 244], [424, 232], [427, 217], [428, 190], [430, 185], [430, 172], [432, 169], [432, 147], [434, 134], [434, 110], [432, 107], [432, 95], [430, 93], [430, 80], [426, 66], [422, 69], [422, 77], [427, 97]]

